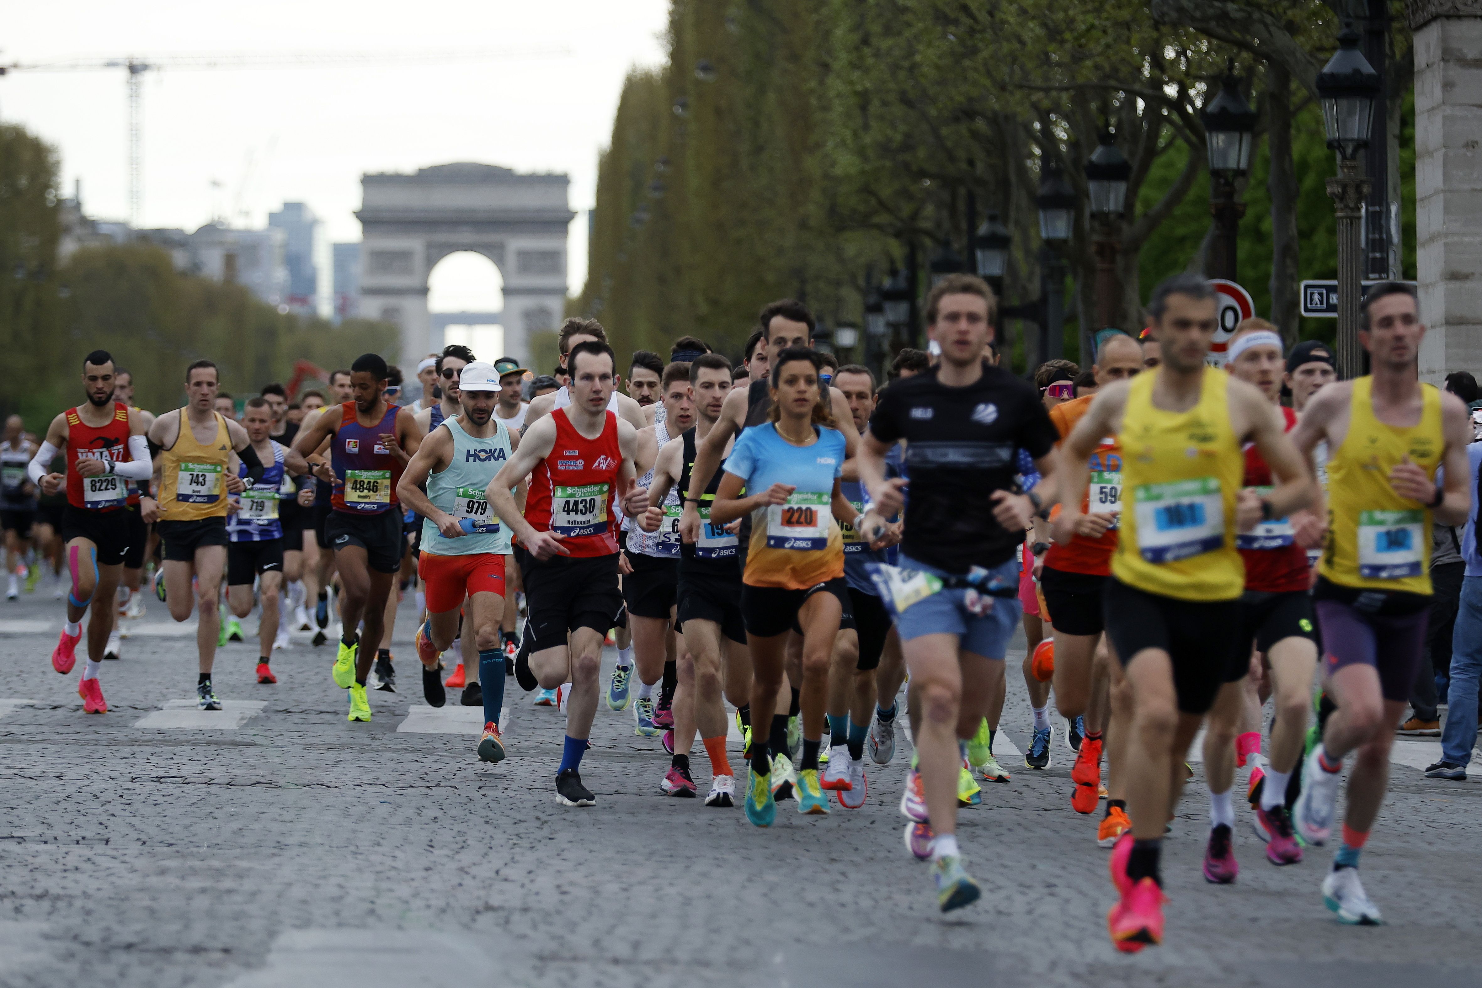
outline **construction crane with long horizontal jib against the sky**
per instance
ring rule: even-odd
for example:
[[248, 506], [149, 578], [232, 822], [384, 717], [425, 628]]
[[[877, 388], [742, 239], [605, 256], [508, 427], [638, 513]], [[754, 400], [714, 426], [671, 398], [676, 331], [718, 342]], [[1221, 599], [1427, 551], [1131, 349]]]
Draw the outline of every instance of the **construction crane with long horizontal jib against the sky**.
[[120, 58], [67, 58], [55, 62], [12, 62], [0, 65], [0, 76], [9, 73], [90, 73], [122, 68], [129, 93], [129, 222], [138, 225], [142, 201], [142, 138], [141, 111], [144, 74], [157, 71], [261, 70], [261, 68], [359, 68], [366, 65], [448, 65], [453, 62], [485, 62], [491, 59], [562, 58], [569, 49], [525, 50], [451, 50], [451, 52], [283, 52], [252, 55], [222, 52], [216, 55], [162, 55]]

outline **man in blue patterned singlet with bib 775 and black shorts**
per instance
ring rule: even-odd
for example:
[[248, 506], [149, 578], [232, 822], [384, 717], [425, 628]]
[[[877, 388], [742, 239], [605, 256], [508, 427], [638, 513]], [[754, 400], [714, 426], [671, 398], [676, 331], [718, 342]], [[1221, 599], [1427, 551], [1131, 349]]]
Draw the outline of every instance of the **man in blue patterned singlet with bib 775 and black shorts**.
[[[227, 515], [227, 603], [231, 613], [252, 613], [252, 584], [258, 584], [262, 616], [258, 624], [258, 683], [277, 683], [270, 662], [279, 637], [280, 597], [283, 590], [285, 538], [280, 504], [295, 498], [290, 474], [307, 474], [304, 458], [268, 438], [273, 430], [273, 404], [262, 397], [247, 398], [242, 427], [252, 441], [258, 461], [268, 464], [262, 475], [231, 499]], [[239, 464], [237, 475], [246, 480], [247, 465]]]

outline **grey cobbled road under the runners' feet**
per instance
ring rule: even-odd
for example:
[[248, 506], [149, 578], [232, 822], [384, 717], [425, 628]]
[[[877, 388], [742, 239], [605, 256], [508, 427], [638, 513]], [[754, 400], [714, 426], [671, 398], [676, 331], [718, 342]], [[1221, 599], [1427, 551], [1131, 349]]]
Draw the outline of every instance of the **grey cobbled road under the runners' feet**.
[[[234, 729], [141, 727], [193, 718], [167, 712], [193, 695], [190, 630], [160, 634], [173, 628], [153, 601], [104, 670], [111, 712], [87, 717], [76, 672], [47, 662], [56, 621], [49, 598], [0, 604], [0, 698], [33, 701], [0, 704], [0, 985], [1482, 984], [1476, 781], [1396, 766], [1363, 862], [1381, 929], [1322, 908], [1331, 849], [1266, 865], [1243, 806], [1239, 884], [1206, 886], [1196, 791], [1165, 856], [1168, 942], [1129, 958], [1106, 938], [1106, 852], [1069, 807], [1058, 736], [1048, 772], [1006, 763], [1014, 781], [963, 812], [987, 895], [943, 918], [901, 844], [901, 754], [870, 770], [864, 809], [803, 819], [784, 804], [759, 831], [740, 809], [658, 795], [658, 739], [603, 708], [582, 773], [599, 803], [565, 809], [562, 715], [513, 686], [498, 767], [474, 757], [477, 714], [431, 724], [464, 733], [399, 730], [434, 720], [411, 601], [396, 635], [408, 683], [372, 693], [370, 724], [345, 721], [329, 650], [295, 635], [277, 686], [253, 683], [255, 644], [219, 656], [218, 717]], [[1006, 739], [1026, 747], [1029, 726], [1011, 675]], [[702, 751], [694, 763], [704, 791]]]

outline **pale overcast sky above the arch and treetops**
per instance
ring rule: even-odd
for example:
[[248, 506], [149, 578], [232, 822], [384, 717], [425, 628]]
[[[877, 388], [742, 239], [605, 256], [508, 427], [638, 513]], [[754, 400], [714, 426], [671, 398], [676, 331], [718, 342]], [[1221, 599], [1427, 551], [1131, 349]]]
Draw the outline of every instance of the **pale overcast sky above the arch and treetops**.
[[[482, 62], [160, 71], [144, 81], [141, 225], [212, 218], [261, 227], [305, 201], [335, 241], [359, 240], [360, 175], [486, 161], [571, 175], [569, 284], [587, 273], [597, 153], [622, 79], [662, 59], [667, 0], [52, 0], [10, 7], [0, 64], [62, 58], [495, 50]], [[10, 73], [0, 120], [56, 147], [90, 216], [129, 212], [122, 68]], [[488, 296], [479, 265], [437, 271], [436, 308]], [[437, 304], [442, 302], [442, 304]]]

